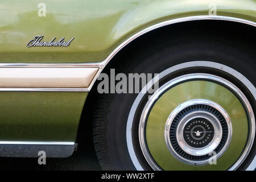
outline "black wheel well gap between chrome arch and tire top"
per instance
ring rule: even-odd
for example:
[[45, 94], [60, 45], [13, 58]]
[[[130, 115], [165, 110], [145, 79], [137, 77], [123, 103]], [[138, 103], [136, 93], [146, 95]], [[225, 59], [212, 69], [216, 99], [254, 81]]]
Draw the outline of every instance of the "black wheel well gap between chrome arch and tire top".
[[227, 20], [193, 20], [169, 24], [147, 32], [127, 44], [113, 56], [102, 72], [105, 72], [109, 68], [117, 67], [123, 57], [145, 51], [151, 44], [157, 44], [161, 41], [164, 43], [167, 38], [186, 38], [195, 35], [197, 38], [205, 35], [216, 36], [220, 39], [237, 43], [238, 46], [246, 46], [247, 51], [255, 53], [255, 48], [251, 46], [255, 44], [256, 36], [254, 32], [254, 26]]

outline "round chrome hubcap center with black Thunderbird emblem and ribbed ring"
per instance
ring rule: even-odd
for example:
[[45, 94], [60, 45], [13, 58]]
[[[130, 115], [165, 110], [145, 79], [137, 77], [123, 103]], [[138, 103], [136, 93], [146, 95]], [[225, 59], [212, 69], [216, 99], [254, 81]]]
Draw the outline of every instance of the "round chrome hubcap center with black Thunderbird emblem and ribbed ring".
[[[232, 124], [228, 113], [208, 100], [178, 106], [167, 119], [164, 138], [168, 150], [181, 162], [207, 164], [229, 146]], [[214, 154], [214, 155], [213, 155]]]

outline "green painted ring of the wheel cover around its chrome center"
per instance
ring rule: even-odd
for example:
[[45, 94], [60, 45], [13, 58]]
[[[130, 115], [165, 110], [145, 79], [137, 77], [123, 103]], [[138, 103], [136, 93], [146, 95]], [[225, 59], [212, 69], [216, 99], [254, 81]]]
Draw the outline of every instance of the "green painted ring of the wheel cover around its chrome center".
[[[222, 106], [232, 122], [232, 140], [216, 165], [191, 166], [182, 163], [172, 156], [164, 141], [164, 126], [171, 112], [183, 102], [199, 98]], [[225, 170], [236, 162], [243, 151], [247, 132], [245, 110], [232, 92], [213, 82], [189, 81], [171, 88], [156, 102], [147, 120], [146, 140], [152, 157], [165, 170]]]

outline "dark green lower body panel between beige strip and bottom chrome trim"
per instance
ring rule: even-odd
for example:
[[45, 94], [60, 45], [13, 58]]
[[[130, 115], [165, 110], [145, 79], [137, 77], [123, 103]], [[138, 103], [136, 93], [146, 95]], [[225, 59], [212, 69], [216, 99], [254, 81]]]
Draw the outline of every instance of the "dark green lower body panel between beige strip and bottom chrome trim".
[[87, 94], [0, 92], [0, 140], [74, 142]]

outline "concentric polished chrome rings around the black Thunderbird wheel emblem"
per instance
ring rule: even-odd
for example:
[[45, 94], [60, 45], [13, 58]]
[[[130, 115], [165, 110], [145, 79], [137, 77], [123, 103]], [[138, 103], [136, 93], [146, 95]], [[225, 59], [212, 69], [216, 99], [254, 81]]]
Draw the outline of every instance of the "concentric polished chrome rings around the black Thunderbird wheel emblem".
[[[183, 156], [177, 154], [177, 152], [175, 151], [174, 147], [171, 144], [171, 140], [170, 140], [170, 129], [171, 129], [171, 124], [174, 121], [176, 115], [178, 113], [180, 113], [181, 110], [185, 109], [186, 107], [189, 107], [192, 105], [199, 105], [199, 104], [211, 106], [214, 109], [218, 110], [223, 115], [223, 117], [225, 118], [225, 121], [228, 125], [228, 137], [226, 139], [225, 145], [222, 147], [222, 149], [220, 151], [218, 151], [216, 156], [212, 156], [212, 157], [210, 157], [208, 159], [204, 159], [204, 160], [189, 160], [189, 159], [186, 159]], [[184, 126], [189, 121], [191, 121], [191, 119], [197, 118], [197, 117], [202, 117], [202, 118], [208, 119], [208, 121], [210, 121], [210, 123], [212, 123], [212, 125], [214, 127], [214, 131], [215, 131], [212, 141], [207, 146], [205, 146], [203, 148], [191, 147], [185, 142], [185, 140], [183, 138]], [[228, 148], [229, 143], [231, 141], [231, 137], [232, 137], [232, 123], [230, 121], [230, 117], [229, 117], [228, 113], [226, 113], [226, 111], [220, 105], [216, 104], [215, 102], [208, 101], [208, 100], [191, 100], [191, 101], [184, 102], [180, 106], [176, 107], [176, 109], [174, 111], [172, 111], [172, 113], [168, 117], [168, 119], [166, 121], [166, 129], [164, 131], [164, 138], [166, 140], [166, 145], [168, 147], [168, 150], [171, 152], [171, 154], [174, 155], [175, 158], [179, 159], [181, 162], [184, 162], [187, 164], [192, 164], [192, 165], [207, 164], [209, 161], [211, 161], [213, 159], [220, 158], [220, 156], [225, 152], [226, 148]], [[221, 123], [218, 121], [218, 118], [216, 118], [213, 114], [211, 114], [207, 111], [203, 111], [203, 110], [192, 111], [191, 113], [185, 115], [181, 119], [181, 121], [178, 123], [177, 129], [176, 129], [176, 138], [177, 138], [177, 143], [179, 144], [180, 148], [183, 151], [187, 152], [187, 154], [190, 154], [192, 156], [208, 155], [208, 154], [210, 154], [210, 152], [214, 151], [216, 149], [216, 147], [221, 142], [221, 138], [222, 138]]]

